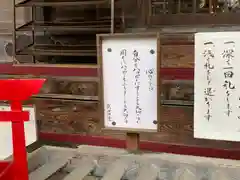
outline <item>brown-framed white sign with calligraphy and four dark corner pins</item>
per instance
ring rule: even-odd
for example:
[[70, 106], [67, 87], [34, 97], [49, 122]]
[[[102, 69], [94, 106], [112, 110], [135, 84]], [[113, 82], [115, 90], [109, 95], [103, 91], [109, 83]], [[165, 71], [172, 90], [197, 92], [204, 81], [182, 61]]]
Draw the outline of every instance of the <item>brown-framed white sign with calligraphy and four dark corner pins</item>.
[[158, 130], [159, 47], [156, 33], [98, 35], [104, 128]]

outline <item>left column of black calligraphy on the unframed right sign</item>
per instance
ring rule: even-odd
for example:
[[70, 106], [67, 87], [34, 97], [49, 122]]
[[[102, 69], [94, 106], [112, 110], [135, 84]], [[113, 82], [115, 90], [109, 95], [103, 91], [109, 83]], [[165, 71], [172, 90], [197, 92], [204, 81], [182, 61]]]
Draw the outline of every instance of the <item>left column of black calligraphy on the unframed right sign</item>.
[[207, 105], [207, 112], [204, 117], [209, 121], [210, 118], [212, 117], [211, 115], [212, 97], [214, 96], [214, 92], [215, 92], [211, 84], [212, 82], [211, 72], [214, 69], [214, 65], [212, 64], [212, 62], [215, 59], [215, 55], [214, 55], [215, 45], [213, 44], [213, 42], [205, 42], [204, 46], [205, 46], [203, 51], [203, 57], [205, 60], [204, 69], [207, 75], [207, 87], [204, 89], [204, 95], [205, 95], [204, 100], [205, 100], [205, 104]]

